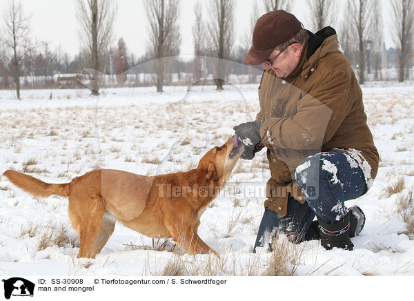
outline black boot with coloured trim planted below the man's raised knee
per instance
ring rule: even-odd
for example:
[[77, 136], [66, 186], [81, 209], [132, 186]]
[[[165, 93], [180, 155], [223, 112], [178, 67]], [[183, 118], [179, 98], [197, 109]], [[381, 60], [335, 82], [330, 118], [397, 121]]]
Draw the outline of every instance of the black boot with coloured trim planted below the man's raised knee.
[[319, 223], [321, 244], [326, 250], [335, 247], [353, 250], [353, 243], [349, 239], [349, 213], [342, 217], [342, 220], [333, 224], [326, 224], [319, 217], [317, 217], [317, 222]]

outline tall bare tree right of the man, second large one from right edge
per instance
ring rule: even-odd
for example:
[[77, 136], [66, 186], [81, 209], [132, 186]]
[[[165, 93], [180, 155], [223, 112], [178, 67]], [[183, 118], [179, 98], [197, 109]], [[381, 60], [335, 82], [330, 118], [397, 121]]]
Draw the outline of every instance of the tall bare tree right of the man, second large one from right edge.
[[372, 43], [371, 9], [372, 0], [348, 0], [348, 19], [357, 37], [357, 61], [359, 65], [359, 84], [365, 82], [366, 48]]

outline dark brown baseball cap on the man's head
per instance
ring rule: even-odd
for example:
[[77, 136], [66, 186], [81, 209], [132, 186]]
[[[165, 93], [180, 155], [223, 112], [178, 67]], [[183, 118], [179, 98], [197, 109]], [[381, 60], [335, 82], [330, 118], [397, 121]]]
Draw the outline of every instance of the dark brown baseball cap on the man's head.
[[253, 30], [253, 46], [248, 50], [244, 62], [262, 64], [277, 45], [295, 37], [302, 24], [293, 14], [284, 10], [273, 10], [260, 17]]

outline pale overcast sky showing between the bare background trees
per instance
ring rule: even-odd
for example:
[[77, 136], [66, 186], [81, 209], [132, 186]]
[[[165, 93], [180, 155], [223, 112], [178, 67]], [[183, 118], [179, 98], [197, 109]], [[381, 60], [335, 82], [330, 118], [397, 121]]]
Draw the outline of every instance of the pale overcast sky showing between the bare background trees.
[[[16, 0], [19, 1], [19, 0]], [[79, 26], [75, 17], [75, 0], [20, 0], [23, 11], [30, 14], [30, 28], [32, 38], [39, 41], [50, 41], [50, 47], [56, 49], [61, 46], [72, 58], [79, 52]], [[144, 55], [148, 41], [146, 14], [142, 0], [117, 0], [118, 14], [115, 23], [115, 41], [120, 37], [126, 42], [128, 53], [137, 56]], [[202, 1], [205, 4], [207, 1]], [[344, 1], [337, 1], [343, 3]], [[383, 10], [389, 14], [388, 0]], [[0, 0], [1, 8], [8, 0]], [[262, 0], [257, 3], [262, 5]], [[293, 14], [308, 27], [308, 11], [306, 0], [295, 1]], [[181, 0], [180, 28], [181, 28], [181, 55], [193, 55], [192, 26], [195, 22], [193, 6], [195, 0]], [[346, 8], [342, 8], [346, 9]], [[235, 8], [235, 44], [246, 34], [253, 10], [253, 1], [236, 0]], [[206, 14], [204, 13], [204, 17]], [[335, 27], [335, 24], [333, 24]], [[388, 32], [386, 32], [388, 35]], [[116, 45], [116, 43], [114, 43]], [[386, 47], [393, 46], [390, 39], [386, 39]]]

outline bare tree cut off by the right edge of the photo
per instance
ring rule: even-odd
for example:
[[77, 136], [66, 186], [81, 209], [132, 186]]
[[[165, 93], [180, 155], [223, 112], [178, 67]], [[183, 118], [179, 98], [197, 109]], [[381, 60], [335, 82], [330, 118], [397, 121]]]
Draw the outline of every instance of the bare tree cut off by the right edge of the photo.
[[411, 68], [411, 53], [413, 52], [414, 32], [414, 2], [413, 0], [393, 0], [393, 37], [398, 53], [398, 81], [406, 79], [407, 71]]

